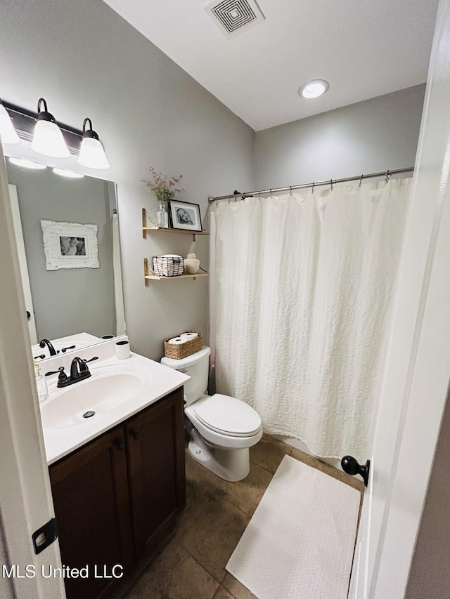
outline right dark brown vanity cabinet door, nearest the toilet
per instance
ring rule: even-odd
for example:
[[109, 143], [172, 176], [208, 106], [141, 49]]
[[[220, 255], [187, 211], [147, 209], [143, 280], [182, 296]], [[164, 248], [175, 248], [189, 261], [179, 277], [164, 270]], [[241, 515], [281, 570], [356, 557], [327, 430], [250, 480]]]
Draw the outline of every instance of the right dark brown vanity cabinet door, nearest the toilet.
[[183, 390], [126, 424], [136, 559], [155, 549], [186, 503]]

